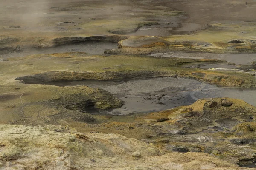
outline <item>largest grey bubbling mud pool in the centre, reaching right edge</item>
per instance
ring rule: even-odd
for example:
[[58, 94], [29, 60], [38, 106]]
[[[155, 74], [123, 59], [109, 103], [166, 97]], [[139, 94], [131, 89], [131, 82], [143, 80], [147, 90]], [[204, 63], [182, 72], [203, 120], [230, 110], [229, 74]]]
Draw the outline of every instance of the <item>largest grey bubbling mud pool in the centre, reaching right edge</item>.
[[[256, 91], [243, 88], [220, 88], [195, 79], [157, 77], [143, 80], [50, 82], [57, 86], [86, 85], [102, 88], [125, 102], [122, 108], [109, 114], [149, 113], [182, 105], [201, 98], [231, 97], [243, 99], [256, 106]], [[104, 112], [106, 113], [106, 112]]]

